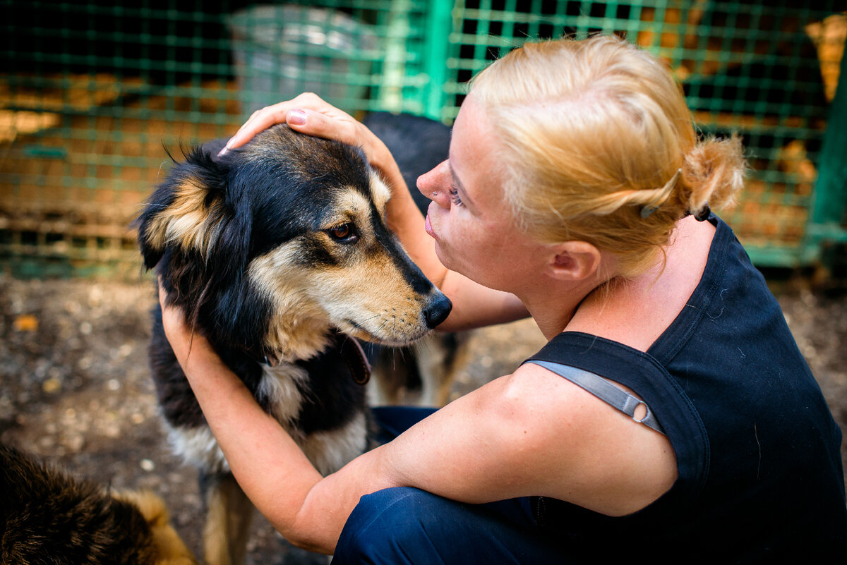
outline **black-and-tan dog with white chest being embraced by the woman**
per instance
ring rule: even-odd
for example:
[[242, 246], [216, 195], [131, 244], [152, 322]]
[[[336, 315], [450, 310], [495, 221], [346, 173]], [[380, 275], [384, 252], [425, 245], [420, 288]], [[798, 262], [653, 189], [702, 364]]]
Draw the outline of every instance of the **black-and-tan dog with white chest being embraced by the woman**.
[[[450, 300], [385, 224], [363, 151], [281, 124], [218, 157], [184, 151], [136, 220], [144, 266], [322, 474], [369, 447], [357, 339], [412, 343]], [[230, 474], [154, 309], [152, 378], [176, 451], [200, 469], [206, 561], [240, 563], [252, 505]], [[281, 486], [284, 487], [284, 486]]]

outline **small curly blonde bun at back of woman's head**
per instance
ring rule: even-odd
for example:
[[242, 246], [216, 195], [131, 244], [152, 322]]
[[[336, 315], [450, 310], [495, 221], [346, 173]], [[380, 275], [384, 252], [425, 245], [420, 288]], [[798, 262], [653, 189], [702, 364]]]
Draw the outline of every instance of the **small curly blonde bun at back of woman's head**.
[[706, 207], [734, 206], [735, 195], [744, 187], [747, 162], [738, 134], [701, 140], [685, 156], [679, 198], [690, 214]]

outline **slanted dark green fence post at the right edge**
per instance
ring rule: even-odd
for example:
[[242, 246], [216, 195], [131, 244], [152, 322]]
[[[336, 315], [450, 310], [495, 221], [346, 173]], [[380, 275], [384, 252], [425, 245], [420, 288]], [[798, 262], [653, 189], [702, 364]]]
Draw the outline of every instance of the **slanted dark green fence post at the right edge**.
[[841, 58], [839, 85], [829, 105], [827, 131], [823, 134], [817, 182], [811, 202], [804, 263], [817, 261], [821, 244], [847, 242], [844, 211], [847, 209], [847, 41]]

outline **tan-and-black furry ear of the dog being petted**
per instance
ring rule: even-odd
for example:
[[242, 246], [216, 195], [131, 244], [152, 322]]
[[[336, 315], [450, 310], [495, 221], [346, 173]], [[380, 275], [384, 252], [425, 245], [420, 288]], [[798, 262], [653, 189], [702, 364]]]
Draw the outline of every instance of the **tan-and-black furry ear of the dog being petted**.
[[185, 162], [174, 165], [135, 222], [147, 269], [169, 246], [208, 257], [214, 237], [233, 218], [225, 201], [228, 173], [229, 166], [201, 147], [186, 151]]

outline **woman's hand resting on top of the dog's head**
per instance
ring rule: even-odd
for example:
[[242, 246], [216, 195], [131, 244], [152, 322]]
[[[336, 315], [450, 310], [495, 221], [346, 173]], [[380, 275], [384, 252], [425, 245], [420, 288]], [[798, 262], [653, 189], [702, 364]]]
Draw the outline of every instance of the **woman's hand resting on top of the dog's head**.
[[277, 123], [287, 123], [291, 129], [303, 134], [361, 147], [368, 162], [384, 172], [385, 168], [394, 162], [394, 157], [385, 144], [368, 128], [347, 112], [339, 110], [311, 92], [253, 112], [219, 155], [224, 156], [236, 147], [241, 147], [256, 134]]

